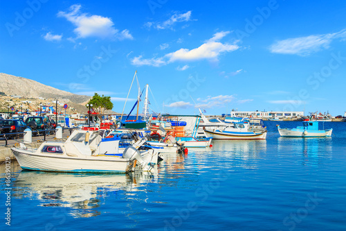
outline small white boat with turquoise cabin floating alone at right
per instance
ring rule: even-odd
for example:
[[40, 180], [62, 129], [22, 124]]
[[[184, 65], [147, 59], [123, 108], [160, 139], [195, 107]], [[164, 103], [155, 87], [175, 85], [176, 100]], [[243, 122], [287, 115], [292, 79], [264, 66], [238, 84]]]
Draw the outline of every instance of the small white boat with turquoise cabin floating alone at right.
[[330, 137], [333, 129], [318, 130], [318, 121], [304, 120], [303, 126], [297, 128], [280, 128], [277, 125], [282, 137]]

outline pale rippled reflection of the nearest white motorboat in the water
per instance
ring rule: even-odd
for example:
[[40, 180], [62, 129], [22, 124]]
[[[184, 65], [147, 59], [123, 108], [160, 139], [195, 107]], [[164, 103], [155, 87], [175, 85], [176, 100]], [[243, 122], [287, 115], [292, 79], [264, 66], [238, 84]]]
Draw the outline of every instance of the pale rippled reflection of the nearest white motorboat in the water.
[[107, 197], [140, 191], [147, 183], [157, 182], [157, 176], [154, 169], [110, 175], [21, 171], [13, 196], [39, 200], [38, 206], [65, 207], [76, 218], [91, 217], [100, 215], [98, 207]]

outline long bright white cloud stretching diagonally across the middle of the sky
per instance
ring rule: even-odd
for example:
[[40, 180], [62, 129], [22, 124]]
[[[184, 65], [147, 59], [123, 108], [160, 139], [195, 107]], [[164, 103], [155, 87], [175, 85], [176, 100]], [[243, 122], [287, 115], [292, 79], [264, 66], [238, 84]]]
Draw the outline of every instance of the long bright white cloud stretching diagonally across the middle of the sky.
[[221, 55], [222, 53], [239, 49], [239, 46], [237, 44], [223, 44], [221, 42], [217, 42], [217, 40], [221, 40], [221, 38], [227, 34], [227, 31], [221, 31], [219, 33], [216, 33], [210, 40], [207, 40], [206, 43], [201, 44], [201, 46], [195, 49], [179, 49], [178, 51], [167, 53], [161, 58], [143, 59], [142, 55], [140, 55], [132, 60], [132, 64], [161, 67], [163, 65], [167, 65], [168, 63], [176, 61], [215, 61], [218, 60], [219, 55]]

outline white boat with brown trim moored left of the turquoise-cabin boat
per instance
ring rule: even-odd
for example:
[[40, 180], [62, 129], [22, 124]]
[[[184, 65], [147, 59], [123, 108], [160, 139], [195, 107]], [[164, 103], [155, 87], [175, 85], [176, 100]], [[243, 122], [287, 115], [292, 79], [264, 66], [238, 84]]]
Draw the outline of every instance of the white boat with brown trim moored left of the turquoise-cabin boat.
[[249, 123], [231, 123], [223, 130], [204, 130], [206, 137], [212, 139], [266, 139], [266, 130], [251, 130]]

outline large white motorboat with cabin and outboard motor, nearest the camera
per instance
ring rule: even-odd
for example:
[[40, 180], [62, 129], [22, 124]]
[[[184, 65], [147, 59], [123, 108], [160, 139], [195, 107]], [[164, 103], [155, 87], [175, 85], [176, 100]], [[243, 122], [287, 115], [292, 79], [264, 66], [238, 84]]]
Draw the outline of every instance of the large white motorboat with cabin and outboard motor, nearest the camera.
[[134, 171], [137, 166], [150, 171], [157, 163], [157, 152], [140, 153], [128, 146], [118, 155], [106, 155], [110, 149], [98, 132], [75, 130], [66, 142], [43, 142], [39, 148], [25, 144], [11, 148], [22, 169], [82, 173], [113, 173]]

